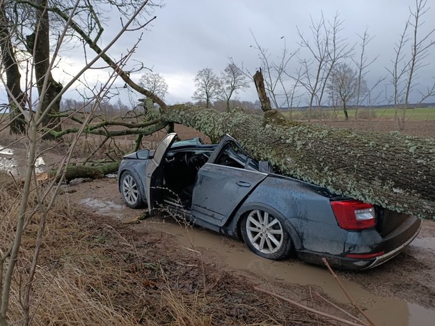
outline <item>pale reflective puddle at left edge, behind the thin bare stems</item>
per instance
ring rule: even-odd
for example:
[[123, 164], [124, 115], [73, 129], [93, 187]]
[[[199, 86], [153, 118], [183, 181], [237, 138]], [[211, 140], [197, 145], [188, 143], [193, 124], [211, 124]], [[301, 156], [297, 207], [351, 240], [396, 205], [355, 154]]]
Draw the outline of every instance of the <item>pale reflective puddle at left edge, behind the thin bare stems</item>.
[[[26, 169], [27, 150], [0, 148], [0, 171], [12, 173], [13, 176], [24, 176]], [[35, 172], [42, 173], [45, 170], [45, 162], [42, 157], [35, 161]]]

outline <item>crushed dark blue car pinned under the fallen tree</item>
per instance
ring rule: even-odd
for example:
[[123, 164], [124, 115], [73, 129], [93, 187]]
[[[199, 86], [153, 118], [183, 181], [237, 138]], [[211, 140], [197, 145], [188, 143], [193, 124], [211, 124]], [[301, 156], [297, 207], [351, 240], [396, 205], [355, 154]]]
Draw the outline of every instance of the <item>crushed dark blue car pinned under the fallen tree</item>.
[[232, 137], [218, 145], [199, 138], [126, 155], [118, 186], [131, 208], [170, 208], [212, 231], [242, 238], [259, 256], [348, 269], [388, 261], [420, 231], [421, 220], [271, 171]]

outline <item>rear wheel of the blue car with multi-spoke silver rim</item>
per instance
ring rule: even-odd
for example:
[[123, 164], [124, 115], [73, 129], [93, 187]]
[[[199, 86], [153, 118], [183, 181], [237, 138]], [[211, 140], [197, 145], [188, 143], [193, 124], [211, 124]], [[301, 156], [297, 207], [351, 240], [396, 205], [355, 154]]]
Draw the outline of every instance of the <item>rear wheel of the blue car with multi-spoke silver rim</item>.
[[241, 221], [241, 233], [249, 249], [258, 256], [280, 260], [290, 256], [293, 242], [283, 218], [267, 210], [246, 212]]

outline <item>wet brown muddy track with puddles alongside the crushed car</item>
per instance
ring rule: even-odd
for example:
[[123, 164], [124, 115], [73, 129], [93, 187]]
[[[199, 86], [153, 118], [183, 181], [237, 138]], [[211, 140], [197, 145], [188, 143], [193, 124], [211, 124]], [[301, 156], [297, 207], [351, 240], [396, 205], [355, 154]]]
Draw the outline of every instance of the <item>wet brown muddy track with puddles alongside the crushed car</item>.
[[[113, 219], [132, 223], [143, 210], [122, 203], [116, 180], [96, 180], [69, 186], [68, 199]], [[296, 286], [310, 286], [335, 302], [349, 303], [331, 274], [322, 266], [291, 258], [268, 261], [251, 253], [242, 242], [200, 228], [177, 224], [171, 218], [152, 217], [131, 228], [156, 233], [195, 250], [207, 261], [243, 274], [257, 284], [273, 284], [283, 292]], [[336, 271], [347, 291], [376, 325], [434, 325], [435, 320], [435, 224], [425, 222], [419, 237], [392, 261], [365, 272]]]

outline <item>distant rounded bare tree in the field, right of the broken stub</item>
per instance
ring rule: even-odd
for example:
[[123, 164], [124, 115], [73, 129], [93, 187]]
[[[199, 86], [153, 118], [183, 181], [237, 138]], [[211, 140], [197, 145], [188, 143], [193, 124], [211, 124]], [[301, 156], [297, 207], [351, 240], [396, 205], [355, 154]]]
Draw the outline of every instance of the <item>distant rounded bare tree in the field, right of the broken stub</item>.
[[367, 93], [367, 86], [364, 79], [360, 79], [358, 71], [354, 70], [348, 63], [338, 63], [331, 71], [326, 89], [333, 103], [339, 104], [345, 113], [346, 120], [349, 120], [347, 106], [358, 95]]

